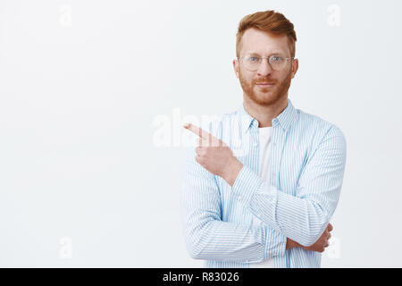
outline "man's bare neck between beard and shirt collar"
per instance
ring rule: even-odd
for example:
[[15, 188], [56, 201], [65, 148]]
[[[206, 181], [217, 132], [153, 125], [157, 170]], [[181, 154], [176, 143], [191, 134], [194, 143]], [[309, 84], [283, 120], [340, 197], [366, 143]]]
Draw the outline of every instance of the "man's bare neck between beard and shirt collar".
[[258, 122], [258, 127], [271, 127], [272, 119], [277, 117], [288, 106], [288, 94], [272, 105], [258, 105], [247, 95], [243, 95], [244, 109]]

